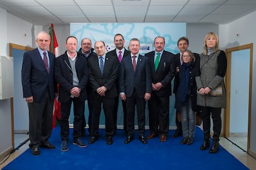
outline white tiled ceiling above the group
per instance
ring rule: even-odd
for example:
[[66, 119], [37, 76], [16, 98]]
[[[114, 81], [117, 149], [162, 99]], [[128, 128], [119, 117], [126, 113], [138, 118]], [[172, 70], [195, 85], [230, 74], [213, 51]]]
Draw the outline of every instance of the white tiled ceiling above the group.
[[256, 10], [255, 0], [0, 0], [34, 25], [103, 22], [226, 24]]

